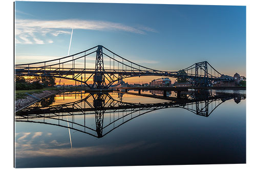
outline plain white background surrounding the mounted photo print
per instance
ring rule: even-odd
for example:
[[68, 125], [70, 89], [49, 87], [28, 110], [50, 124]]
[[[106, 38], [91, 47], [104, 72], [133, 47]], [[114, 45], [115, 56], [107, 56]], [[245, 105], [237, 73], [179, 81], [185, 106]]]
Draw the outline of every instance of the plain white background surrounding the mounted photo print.
[[[73, 2], [73, 1], [59, 1], [54, 2]], [[187, 0], [187, 1], [156, 1], [156, 0], [122, 0], [122, 1], [74, 1], [74, 2], [97, 2], [97, 3], [140, 3], [140, 4], [187, 4], [187, 5], [239, 5], [246, 6], [246, 78], [247, 78], [247, 96], [246, 96], [246, 152], [247, 163], [246, 164], [219, 164], [219, 165], [170, 165], [170, 166], [116, 166], [116, 167], [86, 167], [87, 169], [130, 169], [130, 168], [142, 168], [142, 169], [255, 169], [255, 114], [253, 109], [255, 106], [254, 85], [255, 83], [255, 21], [256, 21], [256, 8], [255, 1], [227, 1], [227, 0], [215, 0], [215, 1], [199, 1], [199, 0]], [[1, 55], [0, 55], [0, 118], [3, 119], [0, 128], [0, 167], [1, 169], [13, 168], [13, 143], [14, 143], [14, 123], [13, 123], [13, 103], [14, 103], [14, 8], [13, 1], [2, 0], [1, 1]], [[43, 168], [46, 169], [46, 168]], [[56, 169], [56, 168], [47, 168]], [[71, 168], [62, 168], [71, 169]], [[76, 167], [75, 169], [84, 169], [84, 167]]]

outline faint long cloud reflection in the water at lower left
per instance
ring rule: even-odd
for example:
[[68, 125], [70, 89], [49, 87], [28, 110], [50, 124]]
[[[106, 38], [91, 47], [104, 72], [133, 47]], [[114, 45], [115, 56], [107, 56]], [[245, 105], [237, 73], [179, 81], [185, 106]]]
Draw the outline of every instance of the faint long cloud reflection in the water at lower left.
[[64, 146], [69, 145], [70, 143], [59, 143], [56, 140], [51, 141], [48, 144], [49, 148], [41, 148], [40, 145], [34, 144], [32, 147], [34, 150], [31, 150], [31, 148], [19, 148], [16, 150], [16, 158], [29, 158], [29, 157], [40, 157], [40, 156], [60, 156], [60, 157], [79, 157], [79, 156], [96, 156], [96, 155], [108, 155], [108, 154], [114, 154], [114, 153], [120, 153], [129, 151], [132, 149], [150, 149], [154, 147], [157, 143], [154, 144], [145, 144], [144, 141], [141, 142], [135, 142], [135, 143], [128, 143], [119, 145], [117, 147], [113, 146], [93, 146], [93, 147], [81, 147], [81, 148], [54, 148], [51, 149], [51, 145], [58, 145], [58, 146]]

